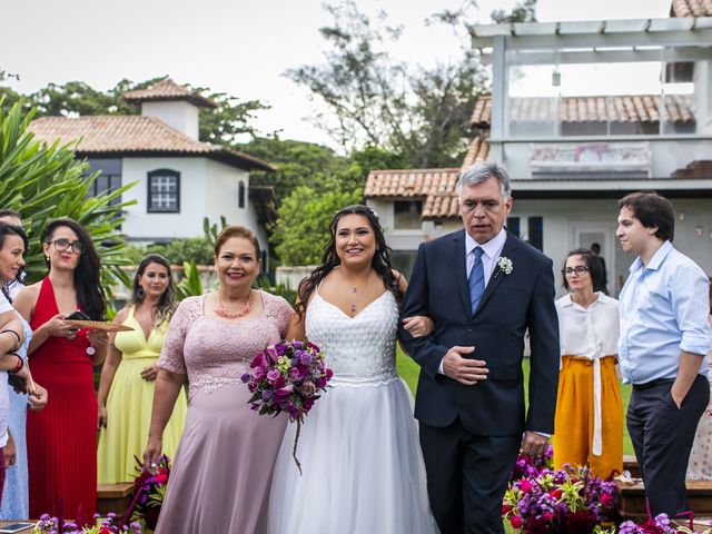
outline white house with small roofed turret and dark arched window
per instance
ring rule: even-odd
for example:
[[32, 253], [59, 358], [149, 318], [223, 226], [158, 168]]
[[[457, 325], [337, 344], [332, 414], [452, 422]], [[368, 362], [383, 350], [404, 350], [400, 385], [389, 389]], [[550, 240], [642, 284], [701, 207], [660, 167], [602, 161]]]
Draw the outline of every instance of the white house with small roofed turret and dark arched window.
[[[122, 200], [122, 230], [131, 241], [165, 243], [204, 235], [204, 217], [244, 225], [267, 250], [274, 217], [270, 188], [250, 187], [249, 171], [275, 170], [247, 154], [198, 140], [200, 107], [210, 100], [170, 78], [123, 95], [140, 116], [42, 117], [30, 130], [47, 142], [78, 140], [77, 156], [101, 171], [95, 192], [136, 182]], [[264, 255], [265, 260], [268, 255]], [[267, 264], [265, 263], [265, 267]]]

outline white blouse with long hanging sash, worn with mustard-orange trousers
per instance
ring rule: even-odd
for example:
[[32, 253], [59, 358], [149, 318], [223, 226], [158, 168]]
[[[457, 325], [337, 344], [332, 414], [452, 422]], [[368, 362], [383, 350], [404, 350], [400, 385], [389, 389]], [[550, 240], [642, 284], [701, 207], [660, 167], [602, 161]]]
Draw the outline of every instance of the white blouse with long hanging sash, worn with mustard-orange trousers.
[[601, 425], [601, 358], [615, 356], [619, 348], [619, 301], [599, 291], [587, 308], [571, 299], [556, 300], [562, 356], [593, 360], [593, 454], [603, 449]]

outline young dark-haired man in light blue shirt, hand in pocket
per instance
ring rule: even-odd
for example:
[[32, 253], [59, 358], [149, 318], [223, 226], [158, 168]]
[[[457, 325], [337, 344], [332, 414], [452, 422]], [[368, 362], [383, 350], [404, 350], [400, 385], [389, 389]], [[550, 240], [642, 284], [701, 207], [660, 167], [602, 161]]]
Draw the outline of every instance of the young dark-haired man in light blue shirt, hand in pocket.
[[624, 251], [637, 255], [619, 310], [621, 372], [633, 385], [627, 428], [652, 515], [674, 517], [689, 510], [685, 471], [710, 399], [709, 278], [673, 248], [668, 199], [634, 192], [619, 208], [616, 236]]

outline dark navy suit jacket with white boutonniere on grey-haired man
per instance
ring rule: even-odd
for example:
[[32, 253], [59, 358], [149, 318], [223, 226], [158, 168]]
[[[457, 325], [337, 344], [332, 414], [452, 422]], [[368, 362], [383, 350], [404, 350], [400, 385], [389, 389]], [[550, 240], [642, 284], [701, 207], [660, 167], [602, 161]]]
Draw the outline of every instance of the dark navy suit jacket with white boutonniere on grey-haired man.
[[[552, 260], [507, 234], [500, 257], [514, 268], [495, 267], [473, 316], [465, 273], [465, 230], [423, 243], [405, 295], [403, 317], [427, 315], [429, 336], [413, 338], [400, 326], [400, 339], [421, 365], [415, 416], [443, 427], [457, 416], [478, 435], [503, 436], [523, 429], [552, 434], [558, 383], [558, 320], [554, 307]], [[522, 358], [528, 328], [531, 346], [530, 407], [524, 414]], [[474, 346], [465, 357], [484, 359], [490, 375], [465, 386], [437, 369], [453, 346]]]

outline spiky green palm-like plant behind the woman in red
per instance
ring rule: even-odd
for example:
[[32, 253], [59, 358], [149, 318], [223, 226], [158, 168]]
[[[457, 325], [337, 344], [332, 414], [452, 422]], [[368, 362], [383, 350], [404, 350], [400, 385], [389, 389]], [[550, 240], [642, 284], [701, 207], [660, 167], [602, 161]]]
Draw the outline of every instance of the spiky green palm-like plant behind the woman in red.
[[134, 184], [89, 196], [97, 175], [87, 176], [89, 166], [75, 159], [72, 146], [46, 146], [36, 140], [27, 129], [34, 111], [24, 112], [21, 101], [9, 112], [4, 109], [4, 98], [0, 97], [0, 207], [22, 214], [30, 240], [26, 255], [28, 283], [46, 274], [40, 241], [47, 222], [58, 217], [71, 217], [91, 235], [101, 257], [105, 287], [117, 280], [128, 283], [119, 268], [129, 263], [119, 225], [123, 220], [121, 209], [135, 202], [110, 202]]

